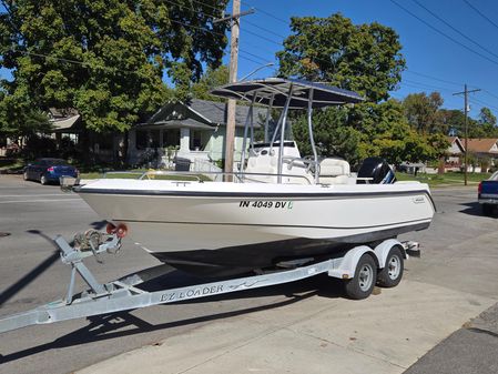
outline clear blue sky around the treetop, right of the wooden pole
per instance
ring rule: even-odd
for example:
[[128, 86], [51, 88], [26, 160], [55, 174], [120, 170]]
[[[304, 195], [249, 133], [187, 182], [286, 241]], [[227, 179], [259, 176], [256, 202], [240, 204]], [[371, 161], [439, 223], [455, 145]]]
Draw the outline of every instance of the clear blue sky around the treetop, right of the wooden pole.
[[[402, 9], [403, 7], [404, 9]], [[392, 97], [441, 93], [444, 108], [464, 109], [469, 90], [470, 117], [482, 107], [498, 117], [498, 1], [495, 0], [242, 0], [242, 10], [255, 13], [241, 20], [238, 78], [266, 62], [254, 78], [275, 72], [275, 52], [291, 33], [291, 17], [328, 17], [341, 12], [355, 24], [379, 22], [399, 36], [406, 71]], [[231, 12], [232, 3], [227, 11]], [[227, 58], [225, 58], [227, 62]]]

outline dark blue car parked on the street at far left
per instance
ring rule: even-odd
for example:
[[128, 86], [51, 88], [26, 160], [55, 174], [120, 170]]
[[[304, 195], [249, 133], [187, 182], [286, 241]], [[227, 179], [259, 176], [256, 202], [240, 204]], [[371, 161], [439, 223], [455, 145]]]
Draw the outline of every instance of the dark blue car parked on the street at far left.
[[78, 169], [61, 159], [38, 159], [24, 168], [24, 181], [40, 181], [41, 184], [58, 182], [61, 176], [78, 176]]

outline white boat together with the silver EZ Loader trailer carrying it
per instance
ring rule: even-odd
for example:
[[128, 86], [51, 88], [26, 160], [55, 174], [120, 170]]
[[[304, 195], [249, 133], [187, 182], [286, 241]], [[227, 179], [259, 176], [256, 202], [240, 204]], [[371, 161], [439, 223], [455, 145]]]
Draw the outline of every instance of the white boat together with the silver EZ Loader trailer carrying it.
[[[69, 244], [54, 243], [71, 266], [64, 299], [0, 319], [0, 333], [157, 304], [226, 294], [326, 274], [344, 280], [350, 299], [365, 299], [375, 284], [396, 286], [404, 260], [417, 253], [400, 233], [429, 226], [434, 204], [426, 184], [394, 183], [383, 160], [364, 161], [358, 174], [338, 159], [318, 159], [313, 140], [315, 108], [356, 103], [354, 92], [297, 80], [265, 79], [227, 84], [214, 91], [223, 98], [266, 104], [282, 114], [272, 139], [254, 142], [252, 110], [240, 169], [221, 173], [225, 182], [102, 179], [72, 189], [102, 218], [108, 234], [88, 230]], [[251, 107], [253, 108], [253, 107]], [[289, 109], [307, 109], [312, 158], [301, 158], [285, 141]], [[277, 139], [277, 137], [280, 139]], [[247, 158], [246, 158], [247, 154]], [[163, 172], [156, 172], [160, 178]], [[193, 173], [195, 176], [195, 173]], [[217, 175], [221, 176], [221, 175]], [[69, 188], [69, 183], [61, 185]], [[69, 188], [71, 189], [71, 188]], [[115, 253], [122, 240], [177, 269], [222, 277], [213, 282], [150, 291], [146, 283], [171, 271], [169, 265], [99, 283], [83, 261]], [[90, 287], [74, 293], [77, 273]]]

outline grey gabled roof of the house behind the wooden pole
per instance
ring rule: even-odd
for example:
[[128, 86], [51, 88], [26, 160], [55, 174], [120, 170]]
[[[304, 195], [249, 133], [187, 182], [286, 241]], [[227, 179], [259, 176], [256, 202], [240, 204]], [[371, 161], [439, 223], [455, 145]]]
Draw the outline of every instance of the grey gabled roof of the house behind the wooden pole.
[[[192, 129], [213, 129], [226, 124], [226, 108], [224, 102], [192, 99], [189, 103], [169, 102], [155, 112], [143, 125], [165, 125], [170, 128], [186, 127]], [[250, 107], [237, 105], [235, 125], [244, 127]], [[265, 118], [266, 109], [254, 107], [254, 127], [260, 128], [260, 117]]]

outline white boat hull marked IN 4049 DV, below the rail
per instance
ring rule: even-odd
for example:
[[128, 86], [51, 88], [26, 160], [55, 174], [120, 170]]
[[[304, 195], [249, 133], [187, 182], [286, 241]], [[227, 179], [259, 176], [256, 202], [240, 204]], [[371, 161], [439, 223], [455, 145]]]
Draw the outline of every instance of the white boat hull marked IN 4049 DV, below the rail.
[[100, 180], [80, 195], [163, 262], [255, 269], [426, 229], [427, 185]]

